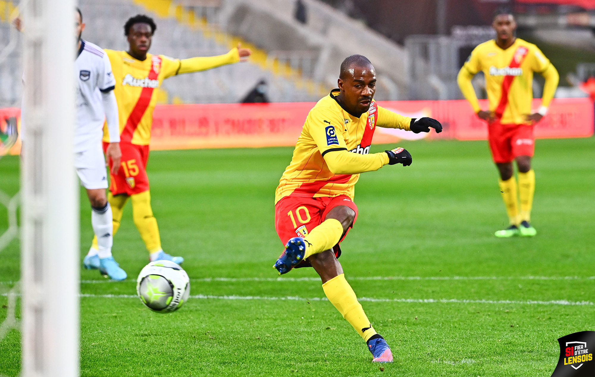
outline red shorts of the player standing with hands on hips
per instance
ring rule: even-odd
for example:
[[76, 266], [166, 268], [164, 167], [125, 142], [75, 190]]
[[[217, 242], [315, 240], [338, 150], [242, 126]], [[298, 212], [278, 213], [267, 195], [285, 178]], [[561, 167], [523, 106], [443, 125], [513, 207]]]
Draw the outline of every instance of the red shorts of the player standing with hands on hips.
[[491, 156], [496, 163], [512, 162], [518, 156], [531, 156], [535, 150], [532, 124], [488, 124]]

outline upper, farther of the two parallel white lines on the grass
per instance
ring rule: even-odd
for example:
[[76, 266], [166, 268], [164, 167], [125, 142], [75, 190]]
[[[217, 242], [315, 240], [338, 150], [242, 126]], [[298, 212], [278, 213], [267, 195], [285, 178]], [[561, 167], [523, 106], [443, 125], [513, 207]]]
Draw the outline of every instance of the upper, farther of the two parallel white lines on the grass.
[[[347, 280], [595, 280], [595, 276], [591, 277], [545, 277], [545, 276], [525, 276], [525, 277], [347, 277]], [[136, 281], [136, 279], [127, 279], [126, 281]], [[242, 281], [317, 281], [320, 278], [305, 277], [305, 278], [200, 278], [190, 279], [190, 281], [227, 281], [227, 282], [242, 282]], [[83, 284], [96, 283], [113, 283], [109, 279], [101, 280], [81, 280]], [[14, 281], [0, 281], [0, 284], [14, 284]]]

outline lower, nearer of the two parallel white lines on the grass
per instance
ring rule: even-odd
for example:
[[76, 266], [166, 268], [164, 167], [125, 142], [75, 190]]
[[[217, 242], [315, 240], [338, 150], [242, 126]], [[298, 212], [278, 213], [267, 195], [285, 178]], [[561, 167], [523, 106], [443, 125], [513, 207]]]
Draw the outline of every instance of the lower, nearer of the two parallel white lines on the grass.
[[[80, 297], [100, 297], [105, 299], [137, 299], [133, 294], [81, 294]], [[311, 297], [309, 299], [297, 296], [265, 297], [265, 296], [211, 296], [206, 294], [195, 294], [192, 299], [216, 299], [216, 300], [290, 300], [290, 301], [328, 301], [326, 297]], [[593, 305], [591, 301], [568, 301], [568, 300], [458, 300], [458, 299], [372, 299], [371, 297], [360, 297], [358, 301], [370, 302], [395, 302], [395, 303], [461, 303], [461, 304], [537, 304], [537, 305]]]

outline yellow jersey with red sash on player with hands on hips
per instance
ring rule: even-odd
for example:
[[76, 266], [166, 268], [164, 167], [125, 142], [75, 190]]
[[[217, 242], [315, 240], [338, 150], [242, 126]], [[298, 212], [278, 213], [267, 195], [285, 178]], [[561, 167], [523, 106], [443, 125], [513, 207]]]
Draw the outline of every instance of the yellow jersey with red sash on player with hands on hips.
[[[533, 112], [533, 73], [543, 73], [551, 64], [536, 45], [516, 38], [507, 49], [500, 48], [495, 40], [481, 43], [471, 52], [462, 70], [471, 76], [483, 71], [490, 111], [500, 123], [523, 124]], [[550, 99], [546, 100], [544, 93], [543, 106], [547, 107]], [[477, 112], [479, 105], [472, 105]]]

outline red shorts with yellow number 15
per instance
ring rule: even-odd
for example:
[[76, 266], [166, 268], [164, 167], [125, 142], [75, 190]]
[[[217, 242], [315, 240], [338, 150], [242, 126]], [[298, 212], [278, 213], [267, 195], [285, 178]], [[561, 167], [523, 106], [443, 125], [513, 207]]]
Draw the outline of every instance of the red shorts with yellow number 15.
[[[109, 143], [104, 142], [104, 152]], [[120, 169], [118, 174], [111, 173], [112, 161], [109, 161], [109, 177], [111, 184], [109, 191], [112, 195], [140, 194], [149, 190], [149, 177], [147, 177], [146, 166], [149, 159], [149, 146], [136, 145], [126, 142], [120, 142], [122, 159], [120, 160]]]

